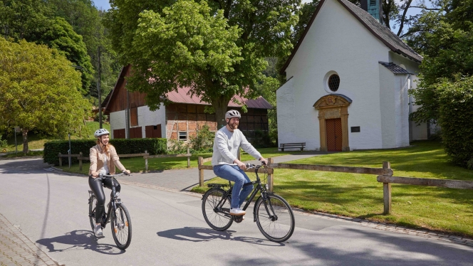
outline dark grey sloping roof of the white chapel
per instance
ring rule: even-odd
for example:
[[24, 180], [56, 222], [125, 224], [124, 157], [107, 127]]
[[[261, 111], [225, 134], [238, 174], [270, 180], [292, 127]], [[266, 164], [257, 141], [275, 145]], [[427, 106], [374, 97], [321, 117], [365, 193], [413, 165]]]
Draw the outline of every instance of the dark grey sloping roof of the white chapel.
[[[313, 21], [315, 21], [316, 19], [318, 11], [320, 11], [325, 1], [326, 0], [321, 0], [318, 4], [316, 11], [313, 13], [311, 20], [308, 22], [306, 29], [302, 33], [301, 38], [298, 40], [296, 47], [292, 50], [291, 55], [284, 64], [283, 68], [281, 69], [281, 74], [286, 71], [286, 68], [289, 66], [289, 63], [291, 63], [292, 58], [296, 54], [299, 46], [301, 46], [303, 39], [306, 37], [309, 28], [311, 28]], [[350, 12], [350, 14], [352, 14], [356, 19], [358, 19], [358, 21], [360, 21], [360, 23], [363, 24], [363, 26], [365, 26], [365, 28], [367, 28], [368, 31], [373, 34], [373, 36], [378, 38], [381, 42], [385, 44], [385, 46], [388, 46], [388, 48], [393, 50], [393, 52], [405, 55], [407, 58], [410, 58], [411, 60], [414, 60], [417, 63], [420, 63], [422, 61], [422, 55], [419, 55], [415, 52], [415, 50], [407, 46], [407, 44], [404, 43], [401, 38], [399, 38], [399, 36], [397, 36], [395, 33], [393, 33], [393, 31], [390, 30], [390, 28], [379, 23], [376, 18], [373, 18], [373, 16], [371, 16], [367, 11], [360, 9], [360, 7], [356, 6], [348, 0], [337, 1], [343, 7], [345, 7], [345, 9]]]

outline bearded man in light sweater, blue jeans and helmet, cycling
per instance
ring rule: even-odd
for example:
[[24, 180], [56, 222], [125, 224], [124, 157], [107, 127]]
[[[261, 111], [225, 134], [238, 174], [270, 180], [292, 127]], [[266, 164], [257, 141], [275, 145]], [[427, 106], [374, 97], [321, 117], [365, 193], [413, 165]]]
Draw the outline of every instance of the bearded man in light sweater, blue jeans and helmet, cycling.
[[243, 186], [244, 183], [250, 183], [251, 181], [244, 172], [245, 164], [237, 159], [239, 148], [241, 147], [246, 153], [264, 164], [268, 163], [238, 129], [240, 118], [240, 112], [237, 110], [229, 110], [225, 114], [227, 124], [215, 134], [214, 153], [212, 154], [214, 174], [222, 179], [234, 182], [232, 202], [230, 203], [230, 214], [232, 216], [244, 216], [245, 211], [241, 210], [241, 204], [244, 203], [246, 197], [253, 190], [253, 186]]

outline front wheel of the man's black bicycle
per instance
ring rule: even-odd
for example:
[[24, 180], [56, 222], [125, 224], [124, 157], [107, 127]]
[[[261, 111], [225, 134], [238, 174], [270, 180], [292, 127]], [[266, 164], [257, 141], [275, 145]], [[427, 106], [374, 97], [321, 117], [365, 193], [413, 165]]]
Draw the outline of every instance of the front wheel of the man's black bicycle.
[[256, 225], [271, 241], [283, 242], [291, 238], [296, 224], [289, 203], [281, 196], [268, 194], [255, 203]]

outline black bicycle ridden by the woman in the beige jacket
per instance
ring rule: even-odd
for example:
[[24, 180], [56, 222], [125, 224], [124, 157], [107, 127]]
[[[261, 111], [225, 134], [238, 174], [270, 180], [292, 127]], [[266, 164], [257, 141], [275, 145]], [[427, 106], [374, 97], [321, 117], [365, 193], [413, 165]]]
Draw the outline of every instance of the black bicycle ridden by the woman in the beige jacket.
[[[99, 174], [97, 179], [115, 179], [115, 176], [123, 176], [122, 174]], [[115, 179], [116, 181], [116, 179]], [[115, 182], [112, 182], [112, 193], [110, 193], [110, 202], [108, 203], [107, 213], [103, 213], [102, 229], [105, 228], [107, 223], [111, 223], [113, 240], [117, 244], [120, 250], [125, 250], [131, 243], [131, 219], [130, 213], [123, 202], [118, 198], [119, 193], [115, 193]], [[97, 198], [93, 194], [93, 191], [89, 191], [89, 219], [90, 227], [95, 227], [95, 207], [97, 206]], [[110, 207], [111, 206], [111, 207]]]

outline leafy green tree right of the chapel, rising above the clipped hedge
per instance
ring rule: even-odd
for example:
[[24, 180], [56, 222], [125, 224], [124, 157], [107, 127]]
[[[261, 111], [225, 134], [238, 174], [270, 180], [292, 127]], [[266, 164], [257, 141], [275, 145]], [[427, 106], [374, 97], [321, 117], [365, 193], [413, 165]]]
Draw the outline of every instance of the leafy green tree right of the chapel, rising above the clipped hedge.
[[412, 90], [420, 108], [411, 114], [416, 122], [439, 118], [439, 83], [473, 75], [473, 0], [443, 1], [440, 11], [422, 15], [408, 43], [424, 55], [419, 89]]

